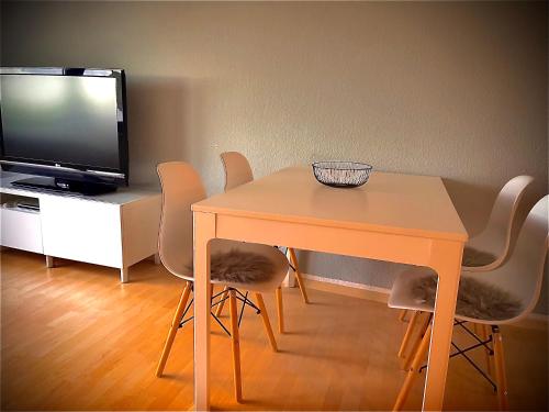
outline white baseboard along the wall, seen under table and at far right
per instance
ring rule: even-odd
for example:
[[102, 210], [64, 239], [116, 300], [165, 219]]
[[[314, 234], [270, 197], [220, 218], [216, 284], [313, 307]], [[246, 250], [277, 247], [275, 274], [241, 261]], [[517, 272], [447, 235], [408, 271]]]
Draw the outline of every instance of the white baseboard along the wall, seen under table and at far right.
[[[385, 304], [389, 299], [389, 294], [391, 293], [391, 289], [388, 288], [325, 278], [310, 274], [302, 274], [301, 276], [305, 279], [307, 288], [352, 298], [367, 299]], [[549, 329], [549, 315], [530, 313], [524, 320], [513, 324], [513, 326], [526, 329]]]

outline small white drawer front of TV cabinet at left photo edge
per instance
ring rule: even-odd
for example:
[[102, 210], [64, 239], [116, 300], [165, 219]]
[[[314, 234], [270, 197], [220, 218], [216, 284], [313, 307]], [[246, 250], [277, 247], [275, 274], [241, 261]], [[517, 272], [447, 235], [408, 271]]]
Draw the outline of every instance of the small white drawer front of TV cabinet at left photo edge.
[[40, 213], [0, 208], [2, 246], [43, 253]]

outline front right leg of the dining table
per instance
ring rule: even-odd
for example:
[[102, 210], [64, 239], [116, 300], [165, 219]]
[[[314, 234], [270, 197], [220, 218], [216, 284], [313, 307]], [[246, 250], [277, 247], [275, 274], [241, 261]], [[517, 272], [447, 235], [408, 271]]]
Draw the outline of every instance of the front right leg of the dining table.
[[462, 252], [463, 244], [459, 242], [437, 241], [432, 248], [432, 267], [438, 274], [438, 288], [423, 396], [424, 411], [442, 410]]

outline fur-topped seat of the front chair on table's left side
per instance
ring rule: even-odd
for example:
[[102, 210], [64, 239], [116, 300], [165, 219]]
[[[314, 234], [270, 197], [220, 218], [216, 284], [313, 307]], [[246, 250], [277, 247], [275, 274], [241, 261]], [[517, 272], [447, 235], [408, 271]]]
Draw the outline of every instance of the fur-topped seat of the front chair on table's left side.
[[[274, 292], [289, 269], [285, 255], [276, 247], [222, 238], [211, 241], [210, 259], [212, 283], [251, 292]], [[192, 261], [187, 267], [184, 278], [192, 281]]]

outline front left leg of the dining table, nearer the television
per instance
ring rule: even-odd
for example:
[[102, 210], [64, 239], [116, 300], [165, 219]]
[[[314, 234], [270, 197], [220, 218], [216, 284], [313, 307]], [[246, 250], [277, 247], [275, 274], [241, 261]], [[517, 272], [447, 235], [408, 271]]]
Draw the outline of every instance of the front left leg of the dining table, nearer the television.
[[194, 409], [210, 410], [210, 247], [215, 214], [194, 212]]

